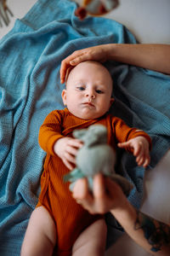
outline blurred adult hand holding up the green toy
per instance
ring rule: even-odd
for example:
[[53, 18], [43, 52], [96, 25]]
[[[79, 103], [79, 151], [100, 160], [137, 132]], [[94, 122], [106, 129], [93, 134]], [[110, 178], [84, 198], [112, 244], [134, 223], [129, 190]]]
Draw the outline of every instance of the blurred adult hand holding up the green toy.
[[124, 209], [127, 201], [121, 187], [102, 174], [94, 176], [93, 194], [88, 190], [87, 179], [78, 179], [73, 188], [73, 197], [92, 214]]

